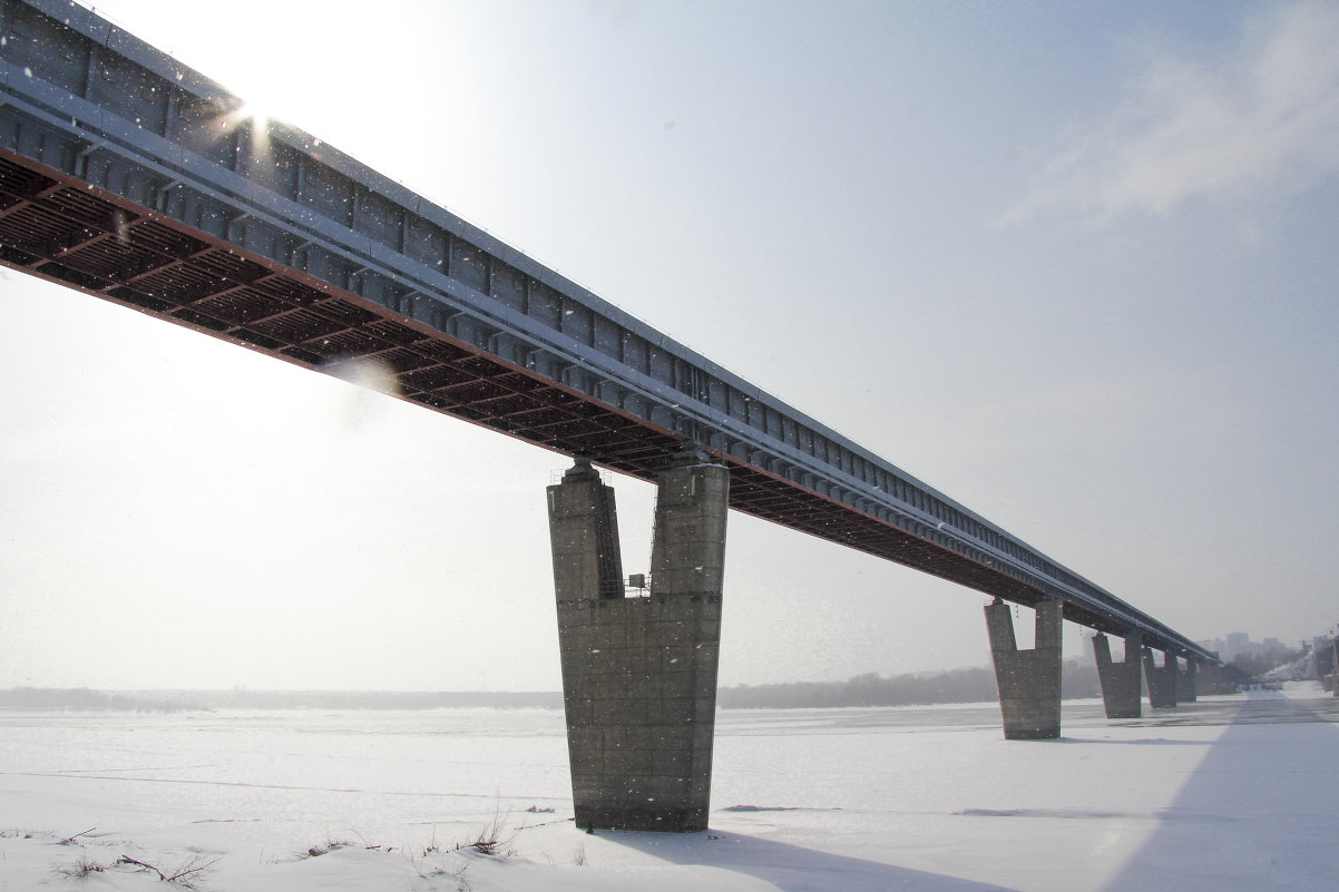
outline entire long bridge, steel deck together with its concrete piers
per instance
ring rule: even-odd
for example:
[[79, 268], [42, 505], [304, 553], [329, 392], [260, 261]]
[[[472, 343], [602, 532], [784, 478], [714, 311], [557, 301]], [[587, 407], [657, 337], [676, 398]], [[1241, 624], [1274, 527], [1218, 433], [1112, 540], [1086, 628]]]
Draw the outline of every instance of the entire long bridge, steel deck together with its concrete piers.
[[[0, 263], [313, 371], [375, 362], [404, 400], [576, 459], [549, 509], [580, 825], [704, 826], [727, 506], [995, 597], [1007, 737], [1059, 734], [1062, 619], [1125, 639], [1123, 663], [1099, 639], [1113, 715], [1138, 714], [1144, 678], [1174, 703], [1182, 660], [1217, 663], [92, 12], [0, 0]], [[592, 462], [659, 486], [645, 588], [623, 576], [613, 490]], [[1008, 603], [1036, 611], [1034, 650], [1016, 648]]]

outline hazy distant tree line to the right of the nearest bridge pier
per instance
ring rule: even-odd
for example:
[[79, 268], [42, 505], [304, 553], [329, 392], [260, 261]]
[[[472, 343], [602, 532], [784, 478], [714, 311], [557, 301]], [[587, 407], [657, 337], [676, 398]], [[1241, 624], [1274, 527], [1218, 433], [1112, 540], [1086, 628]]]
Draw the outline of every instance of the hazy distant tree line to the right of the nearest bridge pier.
[[[1101, 696], [1097, 667], [1069, 660], [1060, 676], [1066, 699]], [[805, 709], [838, 706], [928, 706], [998, 699], [995, 670], [960, 668], [884, 678], [866, 672], [845, 682], [790, 682], [723, 687], [716, 702], [726, 709]]]

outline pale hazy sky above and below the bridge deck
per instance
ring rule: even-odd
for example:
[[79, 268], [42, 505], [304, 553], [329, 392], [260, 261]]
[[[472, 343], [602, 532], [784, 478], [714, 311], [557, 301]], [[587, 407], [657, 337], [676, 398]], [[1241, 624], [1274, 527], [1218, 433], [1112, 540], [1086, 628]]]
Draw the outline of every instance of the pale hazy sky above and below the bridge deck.
[[[98, 11], [1192, 639], [1339, 621], [1335, 4]], [[561, 455], [0, 312], [0, 687], [561, 687]], [[984, 595], [730, 525], [722, 684], [987, 664]]]

